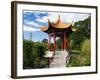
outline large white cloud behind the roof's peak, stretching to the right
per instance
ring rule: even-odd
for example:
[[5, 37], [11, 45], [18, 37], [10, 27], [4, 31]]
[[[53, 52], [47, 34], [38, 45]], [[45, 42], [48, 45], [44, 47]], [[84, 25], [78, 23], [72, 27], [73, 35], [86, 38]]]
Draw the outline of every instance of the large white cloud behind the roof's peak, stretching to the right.
[[60, 19], [65, 23], [71, 23], [72, 21], [76, 22], [79, 20], [84, 20], [90, 16], [90, 14], [81, 14], [81, 13], [49, 13], [50, 21], [56, 22], [58, 19], [58, 15], [60, 15]]

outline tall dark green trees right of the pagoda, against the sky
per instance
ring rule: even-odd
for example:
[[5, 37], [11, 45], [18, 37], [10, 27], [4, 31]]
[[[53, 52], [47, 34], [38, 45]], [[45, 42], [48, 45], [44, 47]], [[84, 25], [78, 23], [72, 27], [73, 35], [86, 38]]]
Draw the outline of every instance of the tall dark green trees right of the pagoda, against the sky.
[[74, 26], [77, 31], [71, 35], [72, 42], [74, 42], [74, 47], [72, 48], [81, 49], [81, 42], [91, 37], [91, 17], [89, 16], [83, 21], [76, 22]]

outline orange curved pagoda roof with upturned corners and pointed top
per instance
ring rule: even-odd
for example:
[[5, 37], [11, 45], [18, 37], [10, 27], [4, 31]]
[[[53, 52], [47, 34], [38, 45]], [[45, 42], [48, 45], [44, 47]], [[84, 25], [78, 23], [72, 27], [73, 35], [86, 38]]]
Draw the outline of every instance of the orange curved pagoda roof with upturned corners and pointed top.
[[48, 26], [41, 27], [41, 31], [48, 32], [48, 30], [65, 30], [65, 29], [71, 29], [72, 31], [76, 31], [76, 29], [72, 29], [72, 23], [64, 23], [60, 20], [60, 16], [58, 16], [58, 20], [54, 22], [50, 22], [48, 19]]

